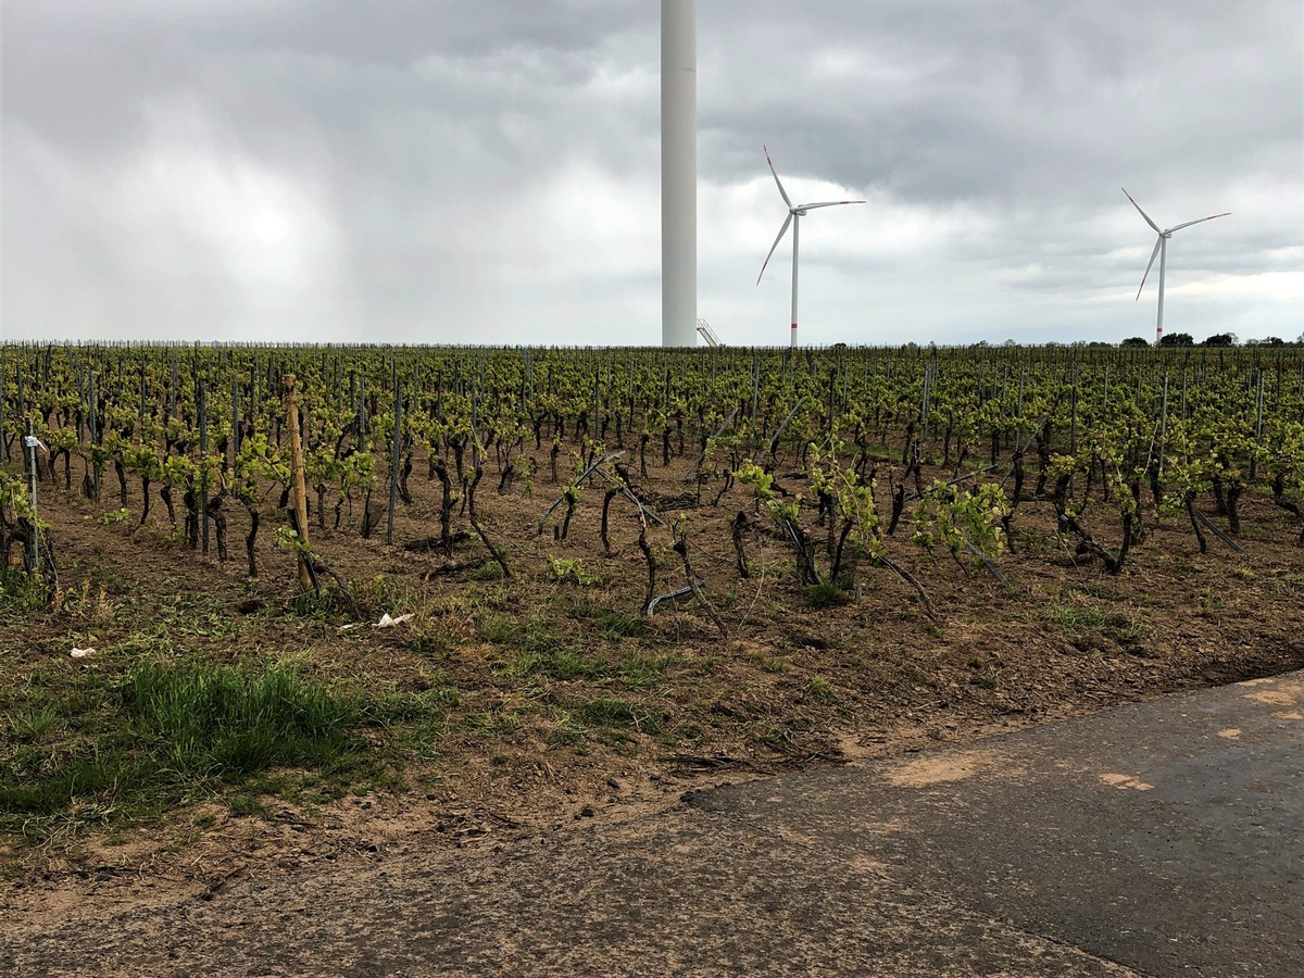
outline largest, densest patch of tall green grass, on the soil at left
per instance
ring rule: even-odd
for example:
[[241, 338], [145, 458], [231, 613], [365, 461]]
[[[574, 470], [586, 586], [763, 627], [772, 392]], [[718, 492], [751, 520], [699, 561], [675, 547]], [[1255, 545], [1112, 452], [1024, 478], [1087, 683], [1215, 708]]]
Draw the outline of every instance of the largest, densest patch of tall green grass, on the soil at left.
[[34, 838], [149, 820], [269, 769], [348, 781], [366, 764], [363, 702], [289, 666], [147, 661], [115, 678], [60, 662], [21, 699], [0, 742], [0, 828]]

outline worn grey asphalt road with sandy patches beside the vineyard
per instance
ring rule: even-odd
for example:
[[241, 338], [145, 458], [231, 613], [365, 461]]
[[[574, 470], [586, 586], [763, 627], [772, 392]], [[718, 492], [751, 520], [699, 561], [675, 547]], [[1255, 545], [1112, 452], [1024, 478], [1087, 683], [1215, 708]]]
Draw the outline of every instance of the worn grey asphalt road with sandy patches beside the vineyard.
[[9, 932], [22, 975], [1304, 975], [1304, 673]]

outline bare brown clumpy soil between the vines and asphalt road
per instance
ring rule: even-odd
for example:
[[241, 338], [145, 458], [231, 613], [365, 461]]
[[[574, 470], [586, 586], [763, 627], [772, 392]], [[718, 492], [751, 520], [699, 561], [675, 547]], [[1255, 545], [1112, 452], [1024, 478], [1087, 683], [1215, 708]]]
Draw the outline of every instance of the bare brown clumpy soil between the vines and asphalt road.
[[[205, 897], [237, 876], [343, 859], [493, 846], [652, 814], [709, 784], [1304, 666], [1304, 548], [1294, 518], [1261, 498], [1241, 503], [1236, 542], [1247, 556], [1217, 539], [1200, 554], [1189, 524], [1148, 512], [1145, 540], [1118, 575], [1056, 533], [1050, 506], [1024, 503], [1016, 552], [996, 565], [1008, 587], [944, 549], [919, 550], [902, 527], [892, 558], [926, 588], [932, 619], [901, 578], [866, 562], [844, 591], [802, 588], [793, 550], [750, 490], [735, 486], [712, 506], [715, 489], [700, 502], [689, 492], [682, 460], [649, 472], [638, 489], [668, 520], [682, 516], [709, 609], [689, 595], [640, 614], [640, 526], [617, 498], [606, 553], [599, 488], [580, 493], [565, 539], [565, 507], [539, 533], [562, 490], [546, 476], [528, 496], [519, 485], [477, 496], [510, 578], [458, 514], [451, 557], [406, 546], [438, 535], [438, 482], [420, 476], [395, 514], [393, 545], [383, 522], [363, 540], [361, 514], [348, 507], [340, 529], [318, 528], [314, 515], [313, 550], [351, 597], [329, 579], [321, 596], [296, 596], [293, 556], [274, 549], [259, 549], [259, 578], [248, 579], [236, 514], [222, 562], [188, 549], [158, 507], [134, 529], [136, 519], [106, 514], [108, 502], [43, 488], [59, 593], [40, 606], [0, 599], [3, 756], [89, 748], [116, 722], [113, 696], [145, 661], [250, 674], [289, 664], [300, 681], [365, 709], [346, 764], [0, 811], [8, 919], [55, 919], [83, 900]], [[128, 499], [129, 511], [138, 506]], [[730, 532], [739, 511], [752, 527], [747, 578]], [[1107, 542], [1110, 526], [1095, 532]], [[670, 532], [648, 540], [657, 593], [682, 588]], [[383, 614], [411, 617], [376, 627]], [[73, 648], [94, 652], [73, 659]], [[81, 720], [87, 691], [98, 691], [86, 700], [98, 712]]]

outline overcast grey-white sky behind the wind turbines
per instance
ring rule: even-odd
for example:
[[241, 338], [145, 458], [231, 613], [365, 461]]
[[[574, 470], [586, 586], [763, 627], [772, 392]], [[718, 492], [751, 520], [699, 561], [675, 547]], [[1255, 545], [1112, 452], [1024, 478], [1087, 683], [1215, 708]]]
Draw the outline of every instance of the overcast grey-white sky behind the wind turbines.
[[[5, 339], [657, 344], [655, 0], [3, 0]], [[698, 314], [1304, 331], [1300, 0], [699, 0]]]

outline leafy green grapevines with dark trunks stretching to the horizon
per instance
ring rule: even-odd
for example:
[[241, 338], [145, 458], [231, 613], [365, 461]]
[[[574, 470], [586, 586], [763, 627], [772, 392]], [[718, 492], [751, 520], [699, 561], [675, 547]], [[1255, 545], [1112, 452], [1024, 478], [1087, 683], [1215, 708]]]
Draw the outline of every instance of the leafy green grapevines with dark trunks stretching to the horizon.
[[[679, 492], [664, 476], [649, 489], [672, 471]], [[417, 479], [436, 501], [429, 533], [400, 540]], [[1029, 507], [1052, 510], [1061, 539], [1112, 574], [1163, 520], [1201, 552], [1240, 549], [1253, 497], [1286, 514], [1283, 544], [1304, 544], [1304, 351], [4, 344], [5, 574], [57, 576], [46, 492], [166, 527], [250, 576], [269, 548], [292, 549], [312, 587], [325, 574], [346, 591], [349, 569], [313, 554], [314, 531], [424, 542], [450, 561], [475, 550], [511, 576], [519, 531], [477, 493], [533, 505], [536, 533], [558, 541], [583, 499], [596, 519], [600, 497], [606, 550], [612, 509], [636, 520], [647, 613], [668, 557], [711, 609], [692, 514], [728, 507], [739, 575], [765, 533], [801, 585], [850, 589], [883, 569], [932, 614], [905, 558], [1005, 583]]]

